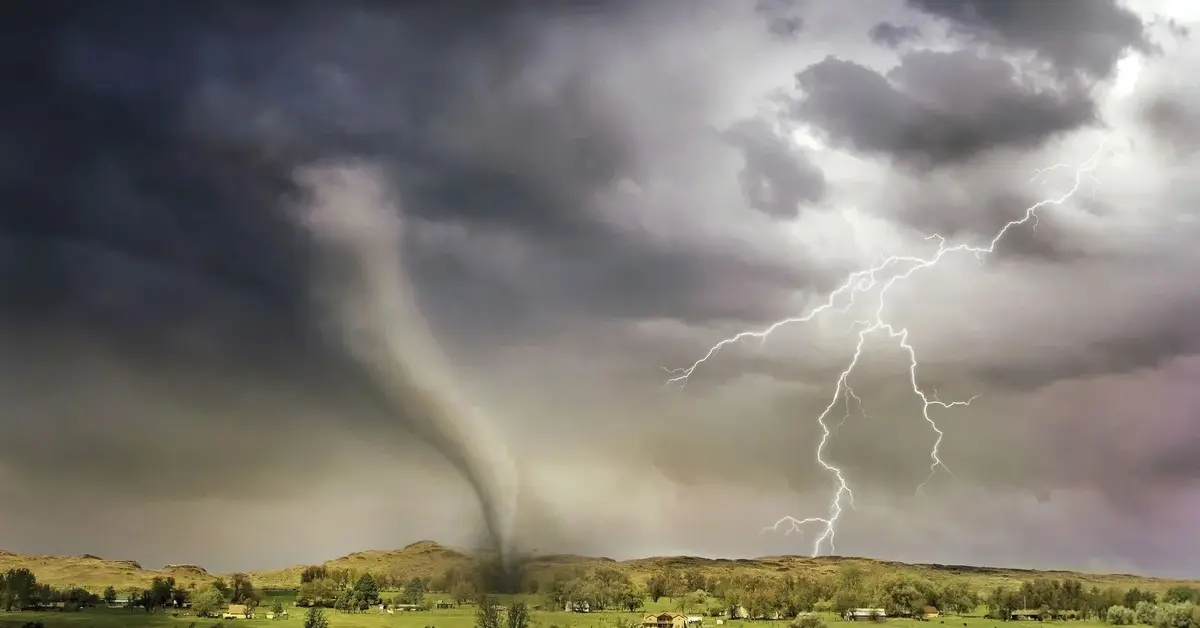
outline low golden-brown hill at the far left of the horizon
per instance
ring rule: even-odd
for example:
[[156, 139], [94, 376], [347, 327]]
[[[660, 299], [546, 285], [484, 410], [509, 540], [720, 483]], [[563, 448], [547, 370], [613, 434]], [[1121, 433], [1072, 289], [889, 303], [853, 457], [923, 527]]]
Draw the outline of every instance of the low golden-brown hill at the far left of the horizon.
[[146, 588], [155, 576], [174, 578], [182, 585], [211, 582], [216, 576], [204, 569], [190, 566], [168, 566], [162, 569], [145, 569], [134, 561], [107, 560], [85, 554], [83, 556], [20, 555], [0, 550], [0, 572], [26, 568], [40, 582], [55, 587], [82, 586], [100, 592], [107, 586], [120, 591]]

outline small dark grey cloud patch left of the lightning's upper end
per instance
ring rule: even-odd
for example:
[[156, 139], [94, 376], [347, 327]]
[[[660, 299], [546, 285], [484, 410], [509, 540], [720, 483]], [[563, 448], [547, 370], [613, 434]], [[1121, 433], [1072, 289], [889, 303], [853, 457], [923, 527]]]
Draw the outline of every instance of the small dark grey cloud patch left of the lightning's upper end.
[[744, 120], [725, 134], [745, 157], [739, 179], [751, 208], [776, 219], [794, 219], [802, 204], [824, 196], [821, 169], [764, 120]]

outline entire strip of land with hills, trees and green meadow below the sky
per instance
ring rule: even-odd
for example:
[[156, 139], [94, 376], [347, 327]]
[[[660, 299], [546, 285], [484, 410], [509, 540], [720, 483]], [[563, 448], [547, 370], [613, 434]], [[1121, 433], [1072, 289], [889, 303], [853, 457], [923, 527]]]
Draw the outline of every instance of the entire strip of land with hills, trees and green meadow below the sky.
[[[0, 609], [26, 609], [0, 610], [0, 628], [38, 623], [44, 628], [300, 628], [305, 605], [323, 608], [332, 628], [476, 628], [484, 599], [502, 608], [502, 617], [485, 622], [484, 628], [514, 622], [517, 628], [638, 628], [644, 614], [666, 611], [677, 612], [672, 621], [678, 624], [672, 628], [684, 623], [688, 628], [822, 628], [815, 618], [841, 626], [850, 622], [832, 611], [853, 609], [870, 616], [886, 612], [882, 623], [892, 628], [998, 628], [1012, 623], [992, 617], [1021, 623], [1031, 614], [1046, 620], [1039, 623], [1072, 628], [1200, 628], [1200, 584], [1128, 574], [850, 557], [613, 561], [535, 556], [516, 573], [496, 580], [496, 564], [486, 555], [432, 542], [355, 552], [322, 564], [224, 575], [199, 566], [145, 569], [133, 561], [96, 556], [0, 552]], [[490, 593], [504, 590], [510, 593]], [[242, 612], [234, 608], [242, 609], [247, 600], [257, 604], [254, 618], [214, 617]], [[391, 611], [380, 610], [380, 604]], [[605, 610], [566, 612], [564, 604]], [[503, 617], [504, 608], [514, 606], [529, 609], [529, 621]], [[200, 616], [202, 608], [208, 616]], [[288, 617], [268, 618], [272, 609], [287, 609]], [[900, 618], [923, 614], [931, 618]], [[793, 622], [798, 616], [805, 620]], [[659, 626], [665, 624], [649, 628]]]

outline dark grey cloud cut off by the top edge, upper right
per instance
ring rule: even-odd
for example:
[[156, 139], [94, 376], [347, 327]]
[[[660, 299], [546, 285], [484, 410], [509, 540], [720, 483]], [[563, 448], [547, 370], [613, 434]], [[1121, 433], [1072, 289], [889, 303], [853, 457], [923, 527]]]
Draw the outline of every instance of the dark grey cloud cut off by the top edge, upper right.
[[907, 0], [972, 40], [1037, 53], [1062, 73], [1103, 78], [1121, 54], [1150, 52], [1141, 19], [1117, 0]]

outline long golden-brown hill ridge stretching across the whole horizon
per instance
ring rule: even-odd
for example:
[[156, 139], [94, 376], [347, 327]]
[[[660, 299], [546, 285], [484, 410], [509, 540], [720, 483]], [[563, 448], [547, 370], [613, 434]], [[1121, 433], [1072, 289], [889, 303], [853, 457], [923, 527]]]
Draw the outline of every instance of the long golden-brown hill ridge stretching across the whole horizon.
[[[421, 540], [398, 550], [364, 550], [323, 564], [332, 569], [354, 569], [403, 578], [436, 578], [451, 567], [469, 568], [480, 556], [470, 550], [446, 548], [432, 540]], [[1088, 574], [1070, 570], [1036, 570], [998, 567], [971, 567], [961, 564], [911, 564], [872, 558], [822, 556], [763, 556], [760, 558], [702, 558], [695, 556], [659, 556], [614, 561], [606, 557], [588, 557], [569, 554], [533, 555], [526, 566], [532, 573], [552, 570], [564, 566], [610, 567], [628, 573], [635, 580], [644, 580], [662, 568], [700, 569], [710, 575], [750, 572], [768, 574], [833, 574], [842, 564], [856, 564], [869, 573], [908, 573], [934, 581], [966, 579], [971, 586], [983, 591], [997, 585], [1015, 585], [1034, 578], [1074, 578], [1085, 586], [1118, 586], [1165, 590], [1175, 585], [1200, 586], [1200, 580], [1175, 580], [1132, 574]], [[0, 550], [0, 570], [25, 567], [37, 575], [38, 581], [54, 586], [84, 586], [102, 590], [115, 586], [119, 590], [148, 587], [155, 576], [174, 578], [182, 585], [197, 586], [212, 582], [217, 574], [210, 574], [196, 564], [168, 564], [162, 569], [145, 569], [137, 561], [109, 560], [94, 555], [41, 556], [20, 555]], [[300, 573], [305, 564], [282, 569], [252, 572], [251, 580], [263, 588], [295, 588], [300, 585]]]

